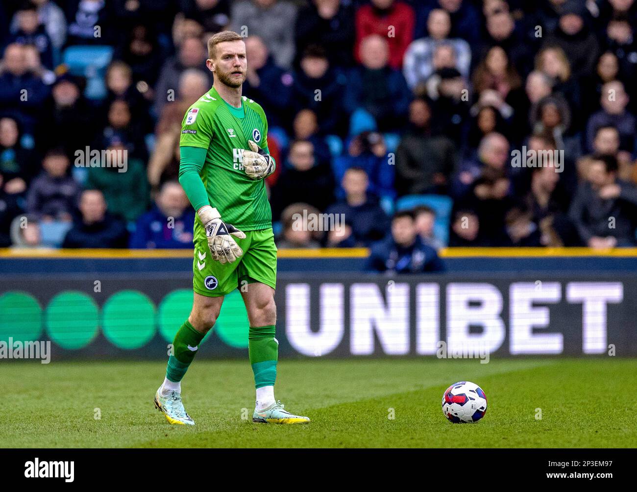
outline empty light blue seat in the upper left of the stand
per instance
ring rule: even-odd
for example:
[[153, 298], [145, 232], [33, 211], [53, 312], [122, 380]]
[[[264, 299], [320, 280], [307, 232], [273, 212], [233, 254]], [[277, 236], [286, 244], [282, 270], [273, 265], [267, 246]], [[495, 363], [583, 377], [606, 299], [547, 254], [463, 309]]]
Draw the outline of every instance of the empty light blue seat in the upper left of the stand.
[[64, 63], [73, 75], [86, 78], [84, 95], [88, 99], [103, 99], [106, 96], [106, 67], [113, 58], [110, 46], [69, 46], [62, 55]]

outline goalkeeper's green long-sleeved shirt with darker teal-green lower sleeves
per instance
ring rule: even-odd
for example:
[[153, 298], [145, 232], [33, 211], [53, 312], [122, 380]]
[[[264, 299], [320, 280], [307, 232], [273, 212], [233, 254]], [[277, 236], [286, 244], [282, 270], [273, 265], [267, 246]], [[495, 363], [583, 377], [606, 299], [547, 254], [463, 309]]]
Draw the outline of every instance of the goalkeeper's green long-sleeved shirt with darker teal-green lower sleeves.
[[[183, 117], [179, 181], [195, 210], [211, 205], [242, 231], [268, 229], [272, 212], [265, 182], [243, 170], [248, 140], [269, 153], [268, 121], [261, 106], [243, 96], [241, 108], [234, 108], [212, 87]], [[198, 217], [194, 234], [205, 235]]]

